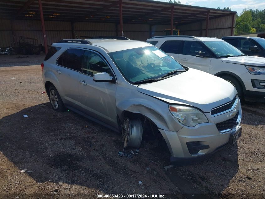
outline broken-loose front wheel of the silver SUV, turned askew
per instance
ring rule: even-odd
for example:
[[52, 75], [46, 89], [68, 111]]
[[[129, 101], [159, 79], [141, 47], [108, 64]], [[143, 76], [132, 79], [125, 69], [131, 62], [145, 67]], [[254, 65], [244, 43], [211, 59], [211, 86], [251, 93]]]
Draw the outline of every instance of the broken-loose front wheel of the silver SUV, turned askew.
[[125, 118], [122, 123], [121, 140], [123, 147], [128, 146], [139, 148], [141, 146], [143, 136], [143, 125], [140, 119]]

